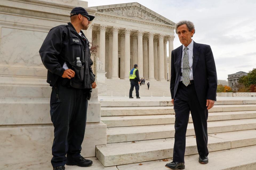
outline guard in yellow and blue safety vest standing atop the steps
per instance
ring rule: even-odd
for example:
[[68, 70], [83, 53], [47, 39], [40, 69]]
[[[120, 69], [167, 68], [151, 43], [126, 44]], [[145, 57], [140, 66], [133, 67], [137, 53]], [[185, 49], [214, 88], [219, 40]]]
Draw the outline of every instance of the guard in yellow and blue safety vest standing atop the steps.
[[130, 74], [129, 79], [130, 79], [130, 82], [131, 82], [129, 98], [133, 99], [133, 90], [134, 90], [134, 87], [135, 87], [136, 98], [140, 99], [140, 97], [139, 97], [139, 84], [141, 83], [141, 79], [139, 78], [139, 71], [138, 71], [138, 65], [137, 64], [134, 64], [134, 68], [131, 69], [129, 74]]

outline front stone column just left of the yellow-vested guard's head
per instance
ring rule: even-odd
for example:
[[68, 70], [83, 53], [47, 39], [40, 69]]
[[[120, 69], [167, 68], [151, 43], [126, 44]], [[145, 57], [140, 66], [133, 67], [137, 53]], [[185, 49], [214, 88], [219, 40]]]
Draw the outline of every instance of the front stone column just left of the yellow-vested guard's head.
[[129, 79], [129, 72], [130, 72], [130, 59], [131, 59], [131, 52], [130, 52], [130, 34], [131, 29], [125, 28], [125, 79]]

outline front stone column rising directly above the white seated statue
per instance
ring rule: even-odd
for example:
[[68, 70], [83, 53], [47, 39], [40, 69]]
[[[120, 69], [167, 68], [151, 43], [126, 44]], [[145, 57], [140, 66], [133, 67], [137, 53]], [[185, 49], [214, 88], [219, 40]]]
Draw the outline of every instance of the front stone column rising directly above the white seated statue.
[[105, 71], [105, 36], [106, 36], [106, 25], [100, 25], [100, 43], [99, 43], [99, 60], [102, 62], [102, 71]]

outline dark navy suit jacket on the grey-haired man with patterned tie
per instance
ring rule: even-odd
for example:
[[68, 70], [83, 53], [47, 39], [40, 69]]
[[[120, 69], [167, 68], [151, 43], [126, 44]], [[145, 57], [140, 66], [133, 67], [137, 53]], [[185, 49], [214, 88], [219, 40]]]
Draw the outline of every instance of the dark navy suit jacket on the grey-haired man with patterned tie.
[[[171, 52], [171, 98], [175, 98], [181, 73], [182, 45]], [[194, 42], [193, 47], [193, 79], [195, 91], [201, 107], [205, 107], [206, 99], [216, 101], [217, 72], [211, 47]]]

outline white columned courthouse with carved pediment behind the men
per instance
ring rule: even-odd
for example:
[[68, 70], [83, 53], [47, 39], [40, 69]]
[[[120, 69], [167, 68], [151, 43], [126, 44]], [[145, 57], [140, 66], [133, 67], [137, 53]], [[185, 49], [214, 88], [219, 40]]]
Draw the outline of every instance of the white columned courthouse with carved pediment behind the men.
[[97, 12], [86, 37], [99, 46], [92, 56], [100, 63], [98, 73], [109, 79], [129, 79], [130, 69], [138, 64], [140, 77], [167, 80], [167, 41], [171, 56], [174, 22], [137, 2], [91, 8]]

